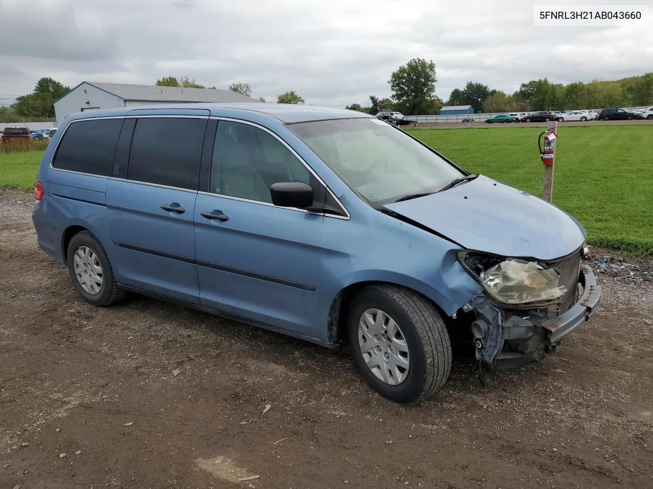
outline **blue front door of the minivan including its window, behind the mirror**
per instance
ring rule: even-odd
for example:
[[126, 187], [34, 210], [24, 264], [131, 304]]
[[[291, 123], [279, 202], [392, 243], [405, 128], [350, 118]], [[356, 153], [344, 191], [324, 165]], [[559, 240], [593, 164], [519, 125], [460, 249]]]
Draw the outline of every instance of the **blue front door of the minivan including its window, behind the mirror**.
[[209, 192], [200, 192], [195, 205], [201, 304], [319, 336], [315, 290], [324, 216], [276, 207], [270, 198], [272, 183], [315, 185], [315, 177], [267, 130], [220, 121], [207, 178]]

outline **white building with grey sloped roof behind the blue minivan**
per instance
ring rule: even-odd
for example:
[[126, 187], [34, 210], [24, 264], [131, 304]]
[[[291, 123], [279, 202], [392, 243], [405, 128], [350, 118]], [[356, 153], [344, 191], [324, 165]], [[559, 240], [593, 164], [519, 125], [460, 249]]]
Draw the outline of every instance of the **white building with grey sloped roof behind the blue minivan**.
[[82, 82], [54, 102], [54, 113], [58, 126], [65, 117], [80, 111], [188, 102], [257, 102], [257, 100], [231, 90]]

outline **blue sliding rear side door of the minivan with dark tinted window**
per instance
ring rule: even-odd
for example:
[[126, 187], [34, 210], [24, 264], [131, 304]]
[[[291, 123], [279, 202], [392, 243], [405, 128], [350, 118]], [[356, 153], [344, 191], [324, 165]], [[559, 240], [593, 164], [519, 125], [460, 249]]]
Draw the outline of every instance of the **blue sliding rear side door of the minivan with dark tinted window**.
[[[124, 178], [106, 186], [112, 264], [122, 284], [199, 303], [193, 215], [207, 121], [136, 121]], [[125, 165], [118, 157], [114, 166]]]

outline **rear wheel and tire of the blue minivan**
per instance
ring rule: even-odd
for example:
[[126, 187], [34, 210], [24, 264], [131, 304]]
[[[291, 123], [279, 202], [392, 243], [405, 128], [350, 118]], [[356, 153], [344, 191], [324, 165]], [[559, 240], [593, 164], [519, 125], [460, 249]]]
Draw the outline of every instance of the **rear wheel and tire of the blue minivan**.
[[[78, 252], [80, 254], [76, 255]], [[125, 297], [125, 291], [120, 289], [116, 283], [116, 277], [106, 256], [106, 251], [93, 233], [80, 231], [74, 235], [68, 245], [67, 257], [72, 285], [84, 301], [93, 306], [105, 307], [115, 304]], [[100, 267], [99, 273], [97, 265]], [[86, 282], [83, 282], [84, 277], [88, 277]], [[100, 285], [98, 285], [98, 280], [101, 280]], [[94, 285], [89, 282], [93, 282]], [[84, 284], [86, 284], [86, 288]], [[97, 289], [97, 291], [93, 291], [93, 289]]]

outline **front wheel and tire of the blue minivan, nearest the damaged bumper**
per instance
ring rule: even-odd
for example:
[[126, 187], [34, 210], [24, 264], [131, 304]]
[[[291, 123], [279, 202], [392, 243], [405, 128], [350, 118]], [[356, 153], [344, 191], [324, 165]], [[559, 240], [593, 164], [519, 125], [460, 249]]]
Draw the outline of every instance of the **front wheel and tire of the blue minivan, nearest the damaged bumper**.
[[[364, 314], [375, 322], [379, 319], [379, 314], [384, 313], [385, 316], [381, 318], [385, 317], [390, 322], [383, 321], [383, 325], [378, 326], [379, 329], [387, 334], [394, 323], [398, 336], [404, 339], [403, 346], [400, 341], [397, 342], [396, 335], [386, 335], [384, 340], [383, 334], [374, 337], [374, 325], [368, 325], [367, 329], [362, 326]], [[349, 307], [347, 334], [358, 371], [375, 391], [391, 400], [402, 403], [421, 400], [436, 393], [449, 377], [451, 343], [445, 323], [436, 306], [414, 291], [389, 285], [362, 289]], [[377, 372], [373, 372], [368, 367], [361, 342], [362, 345], [372, 342], [374, 355], [379, 355], [373, 357], [372, 353], [365, 353], [369, 355], [367, 361], [372, 363], [378, 358], [385, 368], [379, 366]], [[394, 345], [399, 345], [399, 348], [393, 348]], [[400, 351], [402, 348], [406, 349], [403, 353]], [[402, 367], [396, 366], [395, 372], [392, 372], [389, 364], [385, 363], [385, 358], [391, 362], [392, 358], [399, 359], [404, 354], [406, 356], [401, 359], [406, 361], [407, 368], [400, 372]]]

